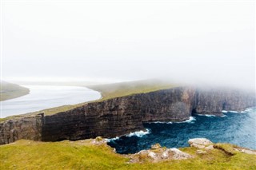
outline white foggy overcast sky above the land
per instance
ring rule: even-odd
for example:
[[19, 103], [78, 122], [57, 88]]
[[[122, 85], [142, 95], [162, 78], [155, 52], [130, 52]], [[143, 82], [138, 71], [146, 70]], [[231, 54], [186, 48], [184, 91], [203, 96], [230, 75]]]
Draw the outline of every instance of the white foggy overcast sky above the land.
[[4, 1], [1, 12], [6, 81], [254, 85], [254, 1]]

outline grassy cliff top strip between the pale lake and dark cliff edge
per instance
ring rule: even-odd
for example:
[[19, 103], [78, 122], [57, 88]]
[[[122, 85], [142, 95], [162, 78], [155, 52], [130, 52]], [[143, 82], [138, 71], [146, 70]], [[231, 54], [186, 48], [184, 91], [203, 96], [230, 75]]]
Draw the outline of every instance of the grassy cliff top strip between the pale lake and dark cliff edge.
[[[82, 85], [80, 86], [86, 86], [89, 89], [94, 89], [102, 94], [102, 98], [96, 101], [89, 101], [89, 102], [97, 102], [97, 101], [105, 101], [114, 97], [124, 97], [133, 95], [136, 93], [149, 93], [153, 91], [157, 91], [160, 89], [170, 89], [177, 87], [178, 85], [170, 84], [164, 81], [157, 81], [157, 80], [146, 80], [146, 81], [127, 81], [122, 83], [114, 83], [114, 84], [106, 84], [106, 85]], [[70, 109], [77, 108], [79, 106], [85, 105], [86, 103], [80, 103], [77, 105], [62, 105], [55, 108], [50, 109], [44, 109], [38, 112], [34, 113], [27, 113], [26, 116], [29, 116], [31, 114], [38, 114], [38, 113], [45, 113], [45, 115], [52, 115], [55, 113], [65, 112]], [[18, 116], [11, 116], [6, 118], [0, 118], [1, 121], [6, 121], [13, 118], [23, 117], [24, 115], [18, 115]]]

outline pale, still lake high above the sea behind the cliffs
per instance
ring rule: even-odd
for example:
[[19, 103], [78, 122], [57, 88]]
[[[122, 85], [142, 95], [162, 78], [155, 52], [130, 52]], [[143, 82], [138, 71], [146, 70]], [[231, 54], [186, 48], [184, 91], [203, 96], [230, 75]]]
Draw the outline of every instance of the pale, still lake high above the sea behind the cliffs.
[[30, 113], [61, 105], [74, 105], [94, 101], [101, 94], [92, 89], [76, 86], [22, 85], [30, 89], [26, 96], [0, 101], [1, 117]]

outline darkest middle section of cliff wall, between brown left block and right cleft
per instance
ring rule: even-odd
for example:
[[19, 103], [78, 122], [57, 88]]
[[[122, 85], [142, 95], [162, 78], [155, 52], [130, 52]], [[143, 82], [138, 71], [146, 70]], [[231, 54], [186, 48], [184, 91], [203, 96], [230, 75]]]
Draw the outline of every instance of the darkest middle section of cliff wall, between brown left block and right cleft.
[[114, 137], [143, 129], [146, 121], [184, 121], [190, 117], [194, 90], [166, 89], [89, 103], [46, 116], [42, 140]]

